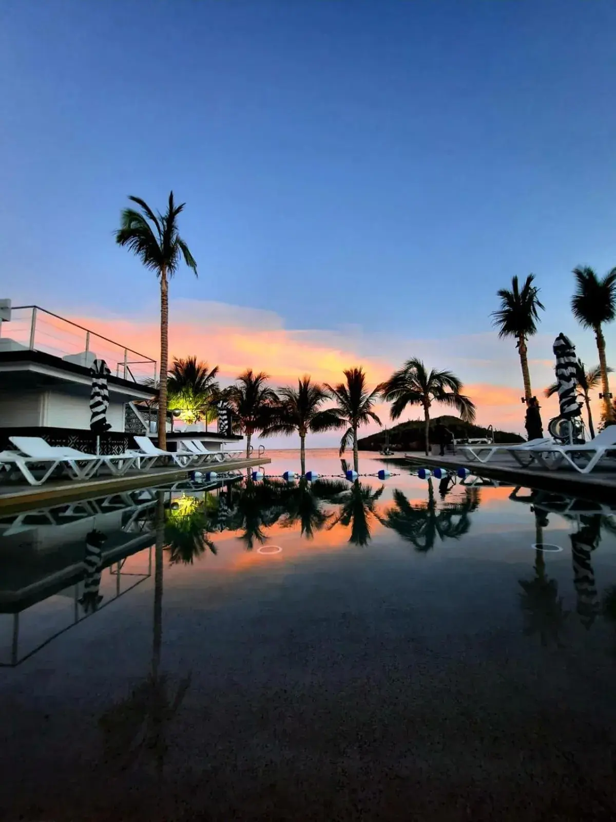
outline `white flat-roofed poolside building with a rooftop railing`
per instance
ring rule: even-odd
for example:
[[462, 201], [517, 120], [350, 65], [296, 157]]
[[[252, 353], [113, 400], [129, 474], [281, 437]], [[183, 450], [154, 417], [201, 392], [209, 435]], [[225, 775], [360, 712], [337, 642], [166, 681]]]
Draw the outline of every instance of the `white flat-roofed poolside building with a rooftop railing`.
[[[107, 411], [111, 428], [100, 438], [103, 453], [131, 447], [131, 435], [155, 439], [156, 413], [150, 419], [143, 410], [143, 404], [158, 393], [154, 359], [38, 306], [11, 308], [8, 300], [0, 301], [0, 450], [10, 447], [8, 436], [18, 434], [92, 450], [90, 367], [94, 359], [103, 359], [111, 371]], [[168, 448], [177, 448], [182, 436], [204, 441], [211, 450], [220, 450], [225, 443], [237, 446], [241, 440], [233, 434], [191, 431], [172, 434]]]

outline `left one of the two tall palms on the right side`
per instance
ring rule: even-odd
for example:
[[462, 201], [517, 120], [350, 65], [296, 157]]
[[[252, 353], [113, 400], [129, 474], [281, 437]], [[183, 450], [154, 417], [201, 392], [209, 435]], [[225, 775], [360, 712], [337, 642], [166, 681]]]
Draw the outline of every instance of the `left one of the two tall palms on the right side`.
[[520, 290], [517, 276], [513, 277], [511, 291], [509, 289], [499, 289], [496, 292], [497, 297], [500, 298], [500, 308], [499, 311], [492, 312], [494, 326], [499, 329], [499, 337], [515, 337], [516, 339], [516, 347], [520, 355], [520, 365], [522, 366], [526, 404], [532, 396], [526, 340], [536, 334], [539, 309], [544, 309], [537, 297], [539, 289], [536, 285], [533, 285], [534, 279], [535, 275], [529, 274], [524, 285], [522, 285], [522, 290]]

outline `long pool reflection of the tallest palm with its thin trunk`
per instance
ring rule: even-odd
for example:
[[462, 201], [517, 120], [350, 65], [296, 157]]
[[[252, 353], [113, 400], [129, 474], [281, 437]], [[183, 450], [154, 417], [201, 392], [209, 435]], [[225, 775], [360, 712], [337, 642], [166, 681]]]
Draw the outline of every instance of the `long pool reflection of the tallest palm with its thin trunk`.
[[160, 673], [163, 641], [163, 544], [165, 533], [164, 492], [159, 492], [156, 517], [156, 547], [154, 566], [154, 621], [152, 667], [149, 676], [131, 695], [100, 718], [104, 744], [109, 758], [124, 768], [134, 764], [141, 753], [154, 755], [159, 779], [163, 777], [167, 751], [165, 732], [177, 713], [191, 684], [191, 675], [184, 677], [171, 695], [168, 677]]

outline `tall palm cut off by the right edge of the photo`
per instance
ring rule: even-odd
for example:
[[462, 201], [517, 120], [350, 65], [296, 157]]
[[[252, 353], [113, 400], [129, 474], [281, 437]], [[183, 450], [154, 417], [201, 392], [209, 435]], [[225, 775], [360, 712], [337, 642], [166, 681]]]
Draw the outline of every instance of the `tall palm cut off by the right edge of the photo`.
[[606, 423], [613, 423], [614, 409], [609, 396], [605, 337], [601, 326], [605, 322], [613, 321], [616, 317], [616, 268], [613, 268], [603, 279], [597, 277], [595, 271], [588, 268], [588, 266], [574, 268], [573, 276], [576, 279], [576, 293], [571, 298], [573, 316], [583, 328], [591, 328], [595, 332], [601, 370], [601, 390], [605, 405], [605, 421]]

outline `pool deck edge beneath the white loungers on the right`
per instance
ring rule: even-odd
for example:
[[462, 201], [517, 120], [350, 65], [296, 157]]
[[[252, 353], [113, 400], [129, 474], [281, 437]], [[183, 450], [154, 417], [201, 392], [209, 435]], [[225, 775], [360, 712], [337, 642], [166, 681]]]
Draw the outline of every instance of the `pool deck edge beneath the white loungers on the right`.
[[578, 473], [574, 469], [544, 471], [536, 468], [522, 468], [506, 454], [494, 455], [490, 462], [480, 463], [467, 459], [462, 453], [444, 457], [421, 454], [402, 457], [406, 464], [416, 468], [466, 468], [476, 476], [498, 480], [501, 483], [538, 488], [584, 499], [614, 501], [616, 499], [616, 460], [606, 463], [606, 468], [598, 466], [592, 473]]

